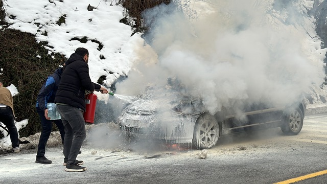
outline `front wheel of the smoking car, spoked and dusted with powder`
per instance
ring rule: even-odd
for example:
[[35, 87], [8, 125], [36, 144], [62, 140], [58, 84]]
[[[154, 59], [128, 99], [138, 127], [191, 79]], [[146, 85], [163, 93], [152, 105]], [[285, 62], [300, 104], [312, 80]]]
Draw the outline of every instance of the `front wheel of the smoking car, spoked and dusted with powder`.
[[193, 132], [193, 146], [196, 149], [208, 149], [216, 145], [219, 138], [219, 124], [209, 113], [202, 114], [196, 121]]

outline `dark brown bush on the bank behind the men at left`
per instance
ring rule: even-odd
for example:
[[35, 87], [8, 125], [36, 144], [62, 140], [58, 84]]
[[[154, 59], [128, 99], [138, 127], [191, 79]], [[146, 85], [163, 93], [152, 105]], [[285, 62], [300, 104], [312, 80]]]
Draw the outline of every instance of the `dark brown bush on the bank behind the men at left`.
[[[29, 121], [19, 134], [29, 136], [41, 131], [36, 96], [46, 77], [63, 64], [65, 58], [60, 54], [48, 55], [44, 48], [46, 43], [37, 43], [30, 33], [5, 29], [0, 31], [0, 42], [1, 78], [5, 86], [17, 87], [19, 94], [13, 97], [16, 121]], [[56, 130], [56, 126], [53, 127]]]

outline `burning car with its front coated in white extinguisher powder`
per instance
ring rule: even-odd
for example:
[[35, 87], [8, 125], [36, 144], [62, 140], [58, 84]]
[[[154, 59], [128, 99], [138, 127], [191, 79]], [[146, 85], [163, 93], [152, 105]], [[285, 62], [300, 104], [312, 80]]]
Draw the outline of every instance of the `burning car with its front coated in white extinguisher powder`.
[[201, 99], [185, 95], [182, 85], [171, 80], [162, 88], [148, 87], [133, 99], [118, 118], [128, 137], [192, 143], [196, 149], [212, 148], [221, 136], [253, 129], [281, 127], [285, 134], [296, 135], [306, 112], [306, 104], [298, 102], [288, 107], [251, 105], [243, 110], [242, 119], [225, 108], [213, 115], [205, 111]]

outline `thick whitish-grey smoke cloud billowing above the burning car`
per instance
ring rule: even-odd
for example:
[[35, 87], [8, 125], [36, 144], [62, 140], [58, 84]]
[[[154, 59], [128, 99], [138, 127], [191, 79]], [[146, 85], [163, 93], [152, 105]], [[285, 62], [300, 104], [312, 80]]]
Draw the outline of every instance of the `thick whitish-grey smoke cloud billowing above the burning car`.
[[[212, 1], [186, 19], [174, 5], [144, 13], [149, 33], [129, 78], [116, 93], [137, 95], [148, 85], [177, 77], [212, 114], [246, 104], [287, 106], [323, 82], [323, 62], [308, 50], [305, 17], [288, 6], [290, 20], [269, 1]], [[292, 20], [292, 21], [291, 21]], [[317, 48], [316, 50], [319, 50]], [[319, 52], [319, 51], [318, 51]]]

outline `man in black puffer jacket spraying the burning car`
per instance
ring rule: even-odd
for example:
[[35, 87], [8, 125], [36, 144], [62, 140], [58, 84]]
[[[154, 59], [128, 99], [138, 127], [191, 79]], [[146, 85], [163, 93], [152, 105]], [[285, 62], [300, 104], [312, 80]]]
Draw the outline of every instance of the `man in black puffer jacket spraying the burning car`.
[[65, 129], [63, 144], [65, 171], [81, 172], [86, 170], [85, 167], [80, 166], [83, 162], [76, 160], [86, 137], [83, 118], [85, 90], [100, 89], [101, 93], [108, 93], [105, 87], [91, 82], [87, 65], [88, 55], [87, 49], [77, 48], [65, 62], [66, 68], [62, 73], [55, 98]]

